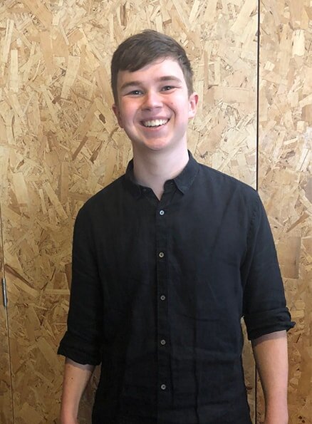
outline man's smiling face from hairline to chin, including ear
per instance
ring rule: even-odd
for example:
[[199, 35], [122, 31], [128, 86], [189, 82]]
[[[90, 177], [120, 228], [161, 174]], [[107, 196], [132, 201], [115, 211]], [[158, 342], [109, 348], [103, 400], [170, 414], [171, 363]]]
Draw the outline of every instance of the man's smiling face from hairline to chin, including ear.
[[165, 58], [135, 72], [120, 71], [117, 93], [113, 110], [133, 150], [185, 147], [187, 123], [196, 113], [198, 96], [188, 95], [177, 61]]

